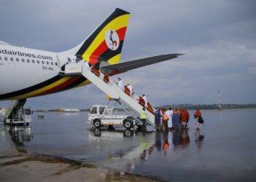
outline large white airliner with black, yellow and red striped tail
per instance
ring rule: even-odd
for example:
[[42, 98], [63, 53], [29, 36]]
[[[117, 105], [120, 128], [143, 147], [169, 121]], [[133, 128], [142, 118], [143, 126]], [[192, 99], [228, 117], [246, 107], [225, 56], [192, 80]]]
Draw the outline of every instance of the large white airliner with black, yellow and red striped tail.
[[60, 74], [70, 61], [91, 63], [102, 73], [113, 76], [182, 55], [158, 55], [119, 63], [128, 21], [129, 12], [116, 8], [87, 39], [64, 52], [15, 47], [0, 41], [0, 100], [26, 102], [26, 98], [90, 84], [84, 76]]

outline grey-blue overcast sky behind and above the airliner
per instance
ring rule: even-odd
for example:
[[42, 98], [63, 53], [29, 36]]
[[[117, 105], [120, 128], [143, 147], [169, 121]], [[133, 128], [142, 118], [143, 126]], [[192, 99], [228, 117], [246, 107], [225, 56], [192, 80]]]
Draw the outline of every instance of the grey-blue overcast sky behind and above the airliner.
[[[116, 7], [131, 13], [121, 61], [185, 54], [121, 74], [138, 95], [145, 93], [155, 106], [211, 104], [219, 102], [221, 90], [223, 103], [256, 103], [253, 0], [0, 0], [0, 40], [39, 50], [69, 50]], [[90, 84], [29, 98], [26, 106], [88, 108], [105, 102], [106, 95]], [[0, 101], [0, 106], [7, 103]]]

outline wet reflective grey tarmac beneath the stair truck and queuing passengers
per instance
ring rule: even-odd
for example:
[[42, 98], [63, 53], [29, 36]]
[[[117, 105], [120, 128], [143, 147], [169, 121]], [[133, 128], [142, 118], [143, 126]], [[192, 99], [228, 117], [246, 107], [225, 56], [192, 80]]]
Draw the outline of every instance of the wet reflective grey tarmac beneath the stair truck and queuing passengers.
[[[1, 124], [1, 147], [162, 181], [255, 181], [256, 110], [202, 111], [199, 131], [91, 130], [87, 112], [33, 115], [29, 127]], [[192, 116], [192, 111], [189, 112]], [[0, 149], [1, 152], [1, 149]]]

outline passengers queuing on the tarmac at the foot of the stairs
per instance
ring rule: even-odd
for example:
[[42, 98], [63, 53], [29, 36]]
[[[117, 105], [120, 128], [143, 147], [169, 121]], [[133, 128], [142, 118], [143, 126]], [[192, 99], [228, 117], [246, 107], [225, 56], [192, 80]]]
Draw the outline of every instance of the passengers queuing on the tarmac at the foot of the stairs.
[[[195, 117], [195, 128], [200, 128], [200, 119], [202, 114], [197, 108], [197, 111], [194, 114]], [[175, 108], [157, 108], [155, 111], [155, 125], [158, 130], [178, 130], [189, 128], [189, 112], [187, 109], [180, 108], [179, 110]]]

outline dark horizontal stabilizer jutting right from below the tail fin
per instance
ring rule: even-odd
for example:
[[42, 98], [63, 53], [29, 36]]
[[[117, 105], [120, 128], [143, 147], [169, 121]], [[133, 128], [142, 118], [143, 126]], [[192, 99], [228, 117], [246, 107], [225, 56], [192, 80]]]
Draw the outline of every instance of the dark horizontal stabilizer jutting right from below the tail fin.
[[139, 60], [130, 60], [124, 63], [117, 63], [113, 65], [107, 65], [107, 66], [102, 66], [101, 71], [105, 74], [108, 74], [110, 76], [113, 76], [115, 74], [121, 74], [126, 71], [135, 69], [135, 68], [140, 68], [143, 66], [148, 66], [154, 63], [159, 63], [165, 60], [170, 60], [173, 58], [178, 58], [179, 55], [183, 54], [167, 54], [167, 55], [157, 55], [154, 57], [150, 58], [142, 58]]

